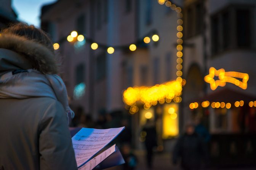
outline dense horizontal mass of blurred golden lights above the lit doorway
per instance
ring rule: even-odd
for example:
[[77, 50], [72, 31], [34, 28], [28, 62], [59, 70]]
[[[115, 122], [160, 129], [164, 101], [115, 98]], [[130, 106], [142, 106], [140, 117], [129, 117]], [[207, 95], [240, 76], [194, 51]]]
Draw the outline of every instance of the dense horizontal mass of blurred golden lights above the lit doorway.
[[129, 87], [123, 92], [123, 101], [127, 105], [141, 101], [146, 108], [150, 108], [161, 99], [174, 99], [176, 96], [180, 96], [181, 91], [181, 83], [175, 80], [152, 87]]

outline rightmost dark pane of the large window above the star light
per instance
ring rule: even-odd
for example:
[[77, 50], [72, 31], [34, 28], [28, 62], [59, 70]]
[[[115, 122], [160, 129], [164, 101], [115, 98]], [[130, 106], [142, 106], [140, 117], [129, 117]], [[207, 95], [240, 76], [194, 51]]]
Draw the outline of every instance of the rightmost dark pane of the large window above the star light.
[[248, 9], [238, 9], [236, 11], [237, 19], [237, 46], [250, 46], [250, 11]]

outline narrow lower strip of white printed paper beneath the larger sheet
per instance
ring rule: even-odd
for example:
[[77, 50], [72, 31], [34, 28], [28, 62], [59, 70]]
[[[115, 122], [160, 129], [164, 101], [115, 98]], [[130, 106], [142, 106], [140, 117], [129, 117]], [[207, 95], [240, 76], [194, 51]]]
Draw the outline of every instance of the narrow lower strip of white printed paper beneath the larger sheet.
[[90, 161], [88, 161], [85, 165], [80, 167], [78, 170], [92, 170], [95, 168], [99, 163], [101, 163], [104, 159], [109, 157], [112, 153], [115, 152], [115, 145], [108, 148], [106, 151], [102, 152], [98, 156], [94, 157]]

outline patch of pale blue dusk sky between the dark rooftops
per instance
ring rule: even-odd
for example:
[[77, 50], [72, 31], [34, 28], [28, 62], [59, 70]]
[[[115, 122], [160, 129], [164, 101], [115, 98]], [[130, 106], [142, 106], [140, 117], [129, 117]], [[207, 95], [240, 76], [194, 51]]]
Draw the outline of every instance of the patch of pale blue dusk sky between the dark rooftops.
[[12, 6], [18, 14], [18, 19], [28, 24], [40, 27], [41, 6], [57, 0], [12, 0]]

